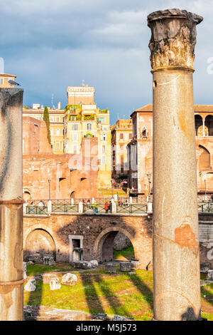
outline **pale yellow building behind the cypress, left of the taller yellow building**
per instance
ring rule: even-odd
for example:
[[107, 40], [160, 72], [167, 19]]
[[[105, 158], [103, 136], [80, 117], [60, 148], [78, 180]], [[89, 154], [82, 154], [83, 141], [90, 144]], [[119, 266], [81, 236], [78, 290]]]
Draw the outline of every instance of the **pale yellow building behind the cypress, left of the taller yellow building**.
[[[35, 105], [37, 108], [30, 109], [23, 108], [23, 115], [31, 116], [37, 120], [43, 120], [44, 108], [38, 106], [39, 105]], [[60, 155], [63, 153], [65, 111], [53, 108], [48, 108], [48, 110], [50, 115], [51, 146], [53, 153]]]

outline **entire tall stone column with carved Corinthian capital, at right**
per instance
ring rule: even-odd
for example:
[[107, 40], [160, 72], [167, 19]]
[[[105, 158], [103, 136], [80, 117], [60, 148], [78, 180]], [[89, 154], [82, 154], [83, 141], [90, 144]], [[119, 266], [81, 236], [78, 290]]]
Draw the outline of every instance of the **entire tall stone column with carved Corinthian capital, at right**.
[[148, 15], [153, 73], [155, 320], [200, 319], [200, 255], [192, 73], [202, 17]]

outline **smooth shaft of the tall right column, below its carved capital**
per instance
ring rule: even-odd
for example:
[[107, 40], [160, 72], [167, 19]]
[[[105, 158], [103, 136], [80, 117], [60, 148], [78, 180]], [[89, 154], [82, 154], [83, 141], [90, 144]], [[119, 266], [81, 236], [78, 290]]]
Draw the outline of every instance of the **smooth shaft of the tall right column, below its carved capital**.
[[192, 72], [155, 72], [153, 82], [154, 318], [199, 319]]

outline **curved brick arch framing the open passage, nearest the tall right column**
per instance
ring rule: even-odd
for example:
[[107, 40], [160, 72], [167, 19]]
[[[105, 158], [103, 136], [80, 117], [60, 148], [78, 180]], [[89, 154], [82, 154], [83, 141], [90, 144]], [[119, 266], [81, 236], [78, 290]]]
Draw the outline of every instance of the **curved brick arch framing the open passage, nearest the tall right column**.
[[[131, 244], [133, 245], [133, 249], [135, 250], [135, 243], [134, 243], [134, 238], [133, 236], [124, 228], [121, 227], [109, 227], [105, 230], [103, 230], [99, 236], [97, 237], [97, 239], [94, 242], [94, 255], [97, 258], [98, 261], [104, 260], [102, 259], [102, 247], [104, 242], [106, 241], [107, 237], [109, 237], [109, 235], [112, 235], [112, 239], [114, 240], [114, 237], [116, 236], [116, 234], [112, 234], [113, 232], [122, 232], [124, 235], [126, 235], [126, 237], [128, 237], [131, 241]], [[113, 245], [113, 244], [112, 244]], [[111, 257], [112, 258], [112, 257]]]

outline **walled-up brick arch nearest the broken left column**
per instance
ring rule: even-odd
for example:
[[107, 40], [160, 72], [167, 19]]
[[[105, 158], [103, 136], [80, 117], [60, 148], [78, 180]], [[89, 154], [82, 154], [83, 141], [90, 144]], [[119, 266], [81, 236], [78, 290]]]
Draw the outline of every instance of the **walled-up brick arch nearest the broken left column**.
[[49, 257], [56, 260], [56, 247], [53, 237], [43, 229], [32, 230], [26, 237], [26, 249], [24, 258], [35, 263], [43, 263], [43, 258]]

